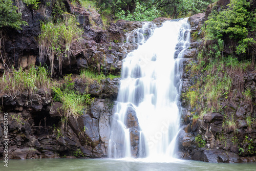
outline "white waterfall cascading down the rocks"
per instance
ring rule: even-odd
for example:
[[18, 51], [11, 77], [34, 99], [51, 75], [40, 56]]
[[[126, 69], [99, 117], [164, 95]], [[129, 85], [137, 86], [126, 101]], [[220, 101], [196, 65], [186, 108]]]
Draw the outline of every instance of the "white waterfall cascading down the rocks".
[[130, 38], [139, 44], [123, 60], [109, 156], [173, 157], [179, 131], [181, 60], [189, 46], [187, 18], [162, 27], [145, 24]]

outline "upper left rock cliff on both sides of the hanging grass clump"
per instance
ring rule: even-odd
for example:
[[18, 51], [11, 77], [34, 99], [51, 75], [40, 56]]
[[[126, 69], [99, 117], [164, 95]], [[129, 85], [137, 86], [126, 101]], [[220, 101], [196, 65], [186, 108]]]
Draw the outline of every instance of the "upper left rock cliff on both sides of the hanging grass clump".
[[[15, 68], [20, 66], [26, 69], [28, 66], [39, 65], [42, 62], [49, 65], [49, 60], [45, 58], [39, 61], [39, 49], [37, 36], [40, 34], [40, 22], [48, 19], [52, 15], [52, 7], [44, 7], [41, 14], [36, 10], [30, 9], [23, 2], [20, 4], [20, 11], [22, 18], [28, 23], [28, 26], [23, 26], [23, 30], [16, 31], [14, 29], [7, 29], [5, 33], [5, 41], [2, 46], [2, 54], [5, 54], [4, 60], [0, 61], [0, 71], [5, 70], [6, 63], [9, 68], [13, 65]], [[41, 2], [46, 4], [45, 1]], [[122, 66], [122, 59], [126, 54], [136, 49], [136, 44], [125, 43], [125, 33], [135, 28], [142, 26], [142, 22], [129, 22], [119, 20], [116, 23], [111, 23], [102, 29], [102, 19], [100, 14], [89, 12], [87, 10], [76, 8], [65, 1], [68, 12], [77, 16], [78, 23], [83, 29], [84, 34], [80, 42], [73, 42], [71, 45], [71, 58], [62, 57], [62, 74], [78, 73], [82, 68], [97, 67], [100, 64], [100, 70], [107, 73], [119, 74]], [[96, 24], [92, 26], [90, 18]], [[122, 46], [123, 45], [123, 46]], [[46, 56], [45, 56], [46, 57]], [[5, 63], [4, 63], [4, 62]], [[6, 62], [8, 61], [8, 62]], [[54, 61], [54, 68], [58, 73], [58, 61]], [[49, 66], [50, 68], [50, 66]]]

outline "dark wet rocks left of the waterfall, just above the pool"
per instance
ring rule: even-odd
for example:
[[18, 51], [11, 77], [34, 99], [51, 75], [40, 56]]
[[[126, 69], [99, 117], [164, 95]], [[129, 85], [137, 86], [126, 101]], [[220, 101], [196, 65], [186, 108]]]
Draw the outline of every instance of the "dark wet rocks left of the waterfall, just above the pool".
[[[63, 125], [62, 103], [51, 104], [49, 94], [38, 93], [29, 96], [24, 92], [15, 98], [9, 95], [0, 98], [8, 99], [1, 103], [9, 116], [10, 159], [58, 158], [71, 156], [78, 149], [83, 157], [101, 158], [108, 155], [113, 101], [95, 99], [87, 113], [78, 119], [70, 117]], [[3, 123], [3, 118], [0, 118], [0, 123]], [[3, 127], [1, 124], [0, 132], [4, 131]], [[0, 140], [3, 142], [3, 137]], [[3, 150], [1, 143], [0, 152]], [[0, 154], [0, 159], [3, 154]]]

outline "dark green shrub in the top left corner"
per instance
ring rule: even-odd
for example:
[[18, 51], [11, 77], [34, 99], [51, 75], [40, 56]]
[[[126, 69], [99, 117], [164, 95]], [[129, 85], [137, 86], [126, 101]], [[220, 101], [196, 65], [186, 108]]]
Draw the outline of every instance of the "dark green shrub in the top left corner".
[[11, 27], [20, 30], [20, 26], [28, 25], [22, 20], [22, 13], [17, 13], [17, 10], [11, 0], [0, 0], [0, 28]]

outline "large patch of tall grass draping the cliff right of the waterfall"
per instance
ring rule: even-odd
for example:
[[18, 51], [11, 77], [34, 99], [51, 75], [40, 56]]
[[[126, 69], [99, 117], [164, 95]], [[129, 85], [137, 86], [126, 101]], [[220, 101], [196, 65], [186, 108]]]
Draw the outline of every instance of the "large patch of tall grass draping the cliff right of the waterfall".
[[[251, 61], [239, 61], [231, 55], [221, 58], [211, 58], [204, 54], [203, 51], [199, 52], [197, 59], [198, 64], [192, 62], [194, 67], [191, 67], [191, 72], [195, 73], [194, 70], [196, 68], [197, 71], [201, 71], [203, 74], [200, 84], [204, 86], [201, 87], [199, 93], [201, 94], [200, 99], [204, 103], [203, 99], [206, 97], [207, 106], [211, 107], [211, 109], [208, 109], [210, 112], [213, 110], [218, 111], [221, 107], [219, 104], [220, 100], [228, 100], [229, 96], [232, 95], [230, 94], [230, 90], [233, 81], [237, 80], [236, 76], [251, 69]], [[243, 90], [239, 89], [238, 91], [242, 92]], [[243, 95], [248, 100], [252, 98], [249, 90], [245, 90]]]

